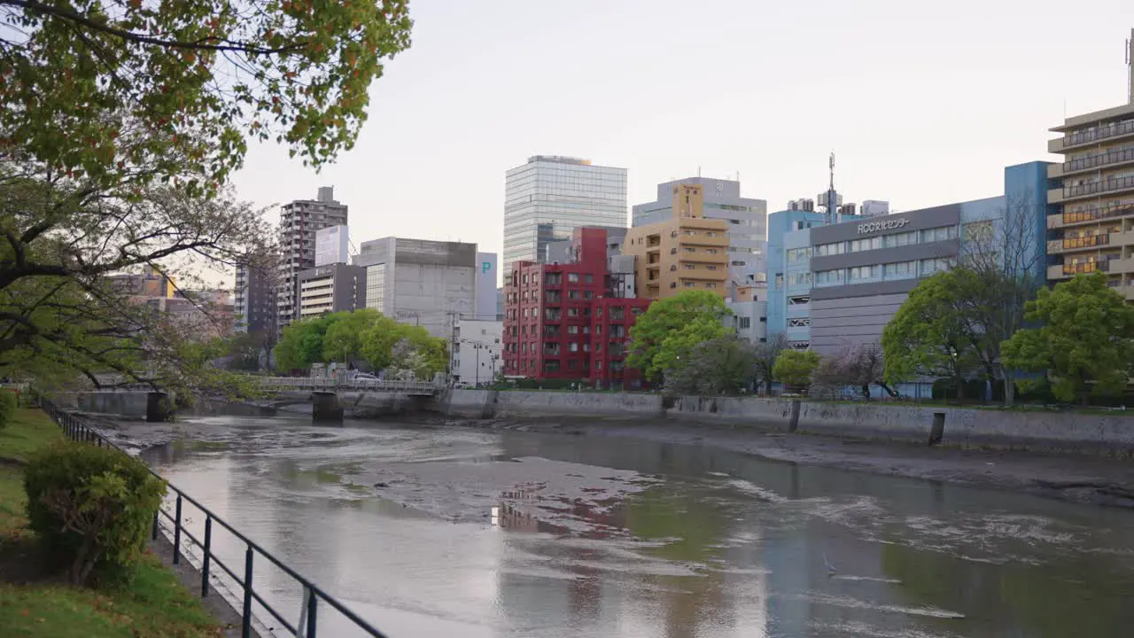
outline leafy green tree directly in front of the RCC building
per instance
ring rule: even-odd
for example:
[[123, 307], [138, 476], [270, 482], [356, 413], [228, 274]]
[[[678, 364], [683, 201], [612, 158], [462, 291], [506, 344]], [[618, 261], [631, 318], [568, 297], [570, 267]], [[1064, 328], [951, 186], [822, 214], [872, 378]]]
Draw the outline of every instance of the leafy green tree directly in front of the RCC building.
[[973, 327], [960, 307], [958, 269], [922, 279], [882, 329], [885, 380], [897, 384], [917, 376], [945, 377], [964, 394], [965, 376], [976, 364]]

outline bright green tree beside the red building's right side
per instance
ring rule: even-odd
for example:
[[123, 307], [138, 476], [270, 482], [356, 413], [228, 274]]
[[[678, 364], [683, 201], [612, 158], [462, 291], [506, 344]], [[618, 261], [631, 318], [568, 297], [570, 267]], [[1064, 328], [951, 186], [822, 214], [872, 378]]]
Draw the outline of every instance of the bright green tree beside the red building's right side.
[[[626, 358], [626, 366], [642, 370], [646, 380], [658, 383], [666, 371], [666, 364], [674, 361], [668, 356], [679, 354], [683, 347], [683, 339], [692, 337], [686, 333], [685, 337], [677, 337], [670, 342], [669, 354], [659, 359], [662, 353], [662, 345], [671, 333], [696, 324], [699, 335], [705, 338], [716, 338], [725, 334], [721, 321], [730, 314], [725, 305], [725, 300], [716, 293], [709, 291], [685, 291], [671, 297], [658, 300], [650, 304], [644, 314], [631, 328], [629, 355]], [[710, 335], [709, 324], [716, 321], [721, 325], [720, 331]], [[693, 330], [693, 328], [691, 328]]]

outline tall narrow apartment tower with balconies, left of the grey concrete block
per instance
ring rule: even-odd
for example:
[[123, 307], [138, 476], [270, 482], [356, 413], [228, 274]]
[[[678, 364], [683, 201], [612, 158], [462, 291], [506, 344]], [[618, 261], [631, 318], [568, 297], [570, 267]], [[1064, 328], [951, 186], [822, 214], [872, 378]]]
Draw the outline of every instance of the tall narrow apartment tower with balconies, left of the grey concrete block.
[[347, 207], [335, 199], [332, 186], [320, 187], [315, 200], [296, 200], [280, 209], [278, 329], [299, 319], [299, 272], [315, 267], [315, 233], [346, 224]]

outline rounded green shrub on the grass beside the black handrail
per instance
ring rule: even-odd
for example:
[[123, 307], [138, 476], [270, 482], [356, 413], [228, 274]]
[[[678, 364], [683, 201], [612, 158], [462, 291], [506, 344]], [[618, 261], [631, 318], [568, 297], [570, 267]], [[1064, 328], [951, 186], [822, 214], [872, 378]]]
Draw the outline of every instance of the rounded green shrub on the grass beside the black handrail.
[[109, 447], [60, 442], [24, 470], [27, 518], [74, 585], [126, 573], [142, 555], [166, 484]]

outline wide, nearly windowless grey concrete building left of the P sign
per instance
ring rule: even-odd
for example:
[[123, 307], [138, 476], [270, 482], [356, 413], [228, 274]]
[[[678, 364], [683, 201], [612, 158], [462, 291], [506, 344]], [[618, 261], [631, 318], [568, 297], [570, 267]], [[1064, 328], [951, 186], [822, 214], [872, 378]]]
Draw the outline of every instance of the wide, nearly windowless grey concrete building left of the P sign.
[[383, 237], [363, 242], [366, 308], [452, 338], [456, 321], [476, 313], [476, 244]]

